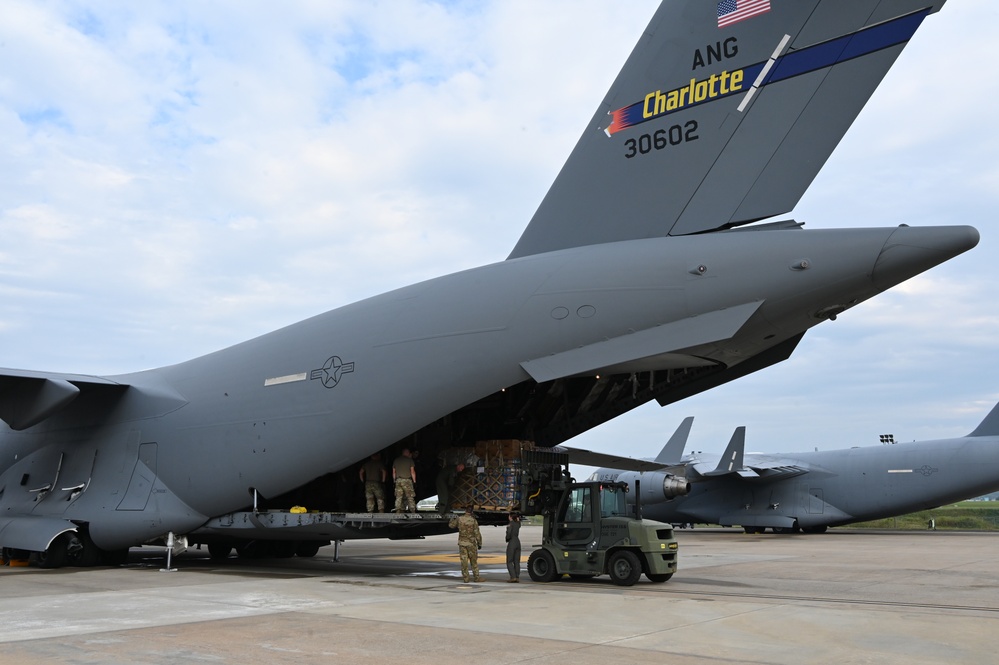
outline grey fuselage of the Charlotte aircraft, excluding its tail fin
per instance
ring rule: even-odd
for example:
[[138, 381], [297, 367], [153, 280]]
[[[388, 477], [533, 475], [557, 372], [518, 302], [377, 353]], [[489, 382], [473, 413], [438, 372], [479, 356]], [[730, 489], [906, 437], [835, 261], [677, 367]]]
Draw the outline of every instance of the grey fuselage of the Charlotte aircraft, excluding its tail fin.
[[741, 231], [433, 279], [110, 377], [129, 385], [120, 398], [84, 396], [0, 435], [0, 501], [68, 520], [114, 511], [113, 526], [91, 530], [107, 548], [183, 533], [246, 506], [253, 490], [276, 496], [531, 381], [522, 363], [735, 366], [975, 242], [968, 227]]

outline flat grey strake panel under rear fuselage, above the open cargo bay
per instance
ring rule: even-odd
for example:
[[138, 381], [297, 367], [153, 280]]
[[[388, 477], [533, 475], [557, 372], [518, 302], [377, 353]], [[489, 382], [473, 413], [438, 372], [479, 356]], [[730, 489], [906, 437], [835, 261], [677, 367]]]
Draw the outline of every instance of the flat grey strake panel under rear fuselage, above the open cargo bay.
[[[582, 374], [611, 373], [608, 368], [729, 339], [762, 304], [763, 301], [755, 301], [692, 316], [544, 358], [528, 360], [520, 366], [538, 383]], [[688, 360], [694, 364], [704, 363], [694, 357]]]

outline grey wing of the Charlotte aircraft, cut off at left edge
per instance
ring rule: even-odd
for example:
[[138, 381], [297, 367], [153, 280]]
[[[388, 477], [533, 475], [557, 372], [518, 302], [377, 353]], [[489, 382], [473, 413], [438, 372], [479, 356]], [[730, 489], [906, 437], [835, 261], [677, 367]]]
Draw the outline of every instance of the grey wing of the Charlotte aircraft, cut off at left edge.
[[118, 396], [127, 387], [99, 376], [0, 368], [0, 420], [13, 430], [27, 429], [66, 408], [81, 393]]

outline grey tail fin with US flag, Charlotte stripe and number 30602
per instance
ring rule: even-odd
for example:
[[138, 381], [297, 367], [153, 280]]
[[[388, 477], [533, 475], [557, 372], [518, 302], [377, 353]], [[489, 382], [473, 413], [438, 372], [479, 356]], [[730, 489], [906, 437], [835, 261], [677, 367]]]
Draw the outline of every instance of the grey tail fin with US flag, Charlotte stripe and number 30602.
[[663, 2], [510, 258], [791, 210], [944, 2]]

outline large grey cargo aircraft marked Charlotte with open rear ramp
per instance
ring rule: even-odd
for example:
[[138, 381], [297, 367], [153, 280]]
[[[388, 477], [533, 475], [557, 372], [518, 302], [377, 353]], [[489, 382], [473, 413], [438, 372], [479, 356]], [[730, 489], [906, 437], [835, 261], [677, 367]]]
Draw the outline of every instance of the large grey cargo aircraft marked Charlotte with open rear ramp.
[[[207, 542], [375, 452], [550, 447], [786, 359], [978, 243], [763, 222], [943, 4], [663, 2], [506, 260], [168, 367], [0, 371], [0, 546], [56, 567]], [[304, 549], [352, 535], [317, 526]]]

